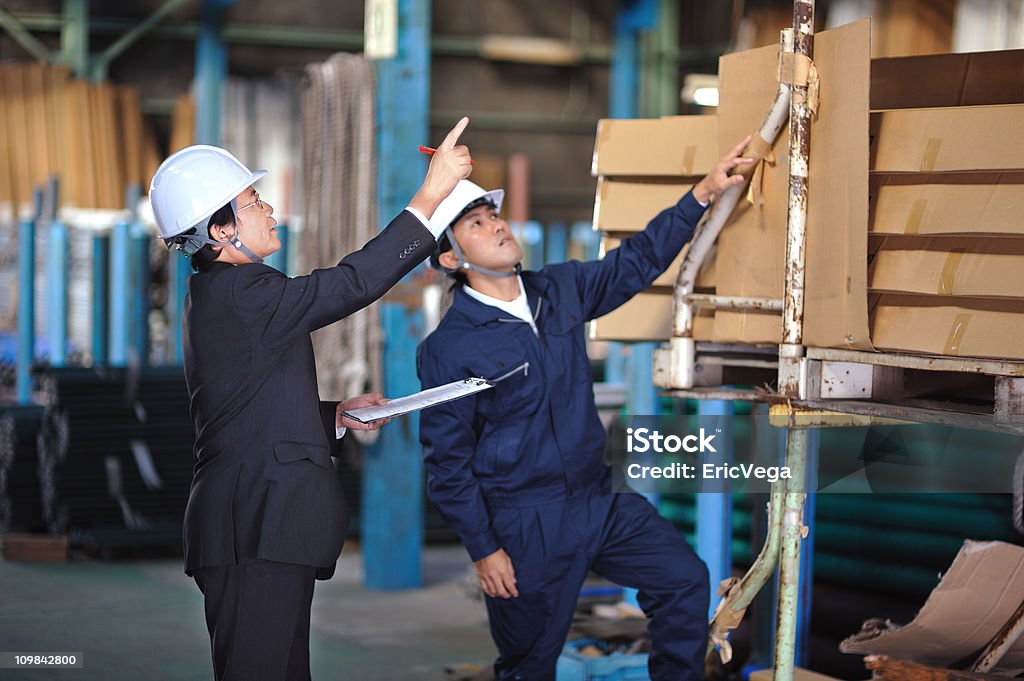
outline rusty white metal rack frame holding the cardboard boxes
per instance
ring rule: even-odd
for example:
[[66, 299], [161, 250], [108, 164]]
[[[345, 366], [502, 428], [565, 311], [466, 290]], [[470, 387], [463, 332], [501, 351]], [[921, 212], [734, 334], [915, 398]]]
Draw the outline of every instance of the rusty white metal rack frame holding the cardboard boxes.
[[[806, 62], [813, 58], [813, 19], [814, 0], [795, 0], [794, 28], [783, 31], [782, 36], [782, 50], [793, 52], [796, 59]], [[774, 418], [770, 419], [770, 423], [786, 429], [785, 465], [790, 467], [793, 478], [775, 483], [770, 496], [768, 538], [750, 571], [741, 580], [723, 585], [725, 593], [712, 621], [709, 643], [709, 654], [720, 647], [723, 658], [731, 655], [729, 631], [738, 626], [754, 596], [768, 583], [777, 566], [775, 681], [793, 679], [799, 612], [802, 605], [804, 609], [807, 606], [806, 598], [801, 603], [800, 597], [801, 545], [811, 537], [813, 497], [808, 498], [807, 492], [808, 486], [813, 491], [813, 483], [808, 482], [806, 474], [811, 473], [813, 479], [816, 466], [814, 433], [808, 429], [924, 422], [1024, 434], [1024, 363], [804, 347], [807, 178], [811, 130], [809, 99], [807, 83], [780, 83], [778, 96], [755, 136], [756, 143], [748, 152], [748, 155], [762, 158], [788, 119], [790, 196], [783, 298], [737, 298], [693, 293], [697, 271], [732, 212], [742, 187], [731, 194], [726, 193], [691, 241], [675, 287], [674, 337], [668, 348], [655, 353], [654, 368], [658, 386], [670, 388], [668, 394], [674, 396], [701, 400], [785, 402], [773, 408]], [[719, 309], [781, 311], [782, 342], [777, 346], [762, 347], [696, 343], [692, 337], [693, 311], [700, 305]], [[705, 356], [699, 356], [701, 351]], [[737, 351], [746, 354], [738, 354]], [[752, 355], [755, 358], [751, 358]], [[769, 395], [755, 390], [698, 387], [701, 367], [716, 365], [776, 369], [778, 391]], [[902, 382], [904, 370], [994, 376], [994, 411], [983, 414], [965, 409], [956, 411], [946, 405], [900, 400], [897, 386]], [[982, 652], [973, 671], [990, 670], [1022, 632], [1024, 606]]]

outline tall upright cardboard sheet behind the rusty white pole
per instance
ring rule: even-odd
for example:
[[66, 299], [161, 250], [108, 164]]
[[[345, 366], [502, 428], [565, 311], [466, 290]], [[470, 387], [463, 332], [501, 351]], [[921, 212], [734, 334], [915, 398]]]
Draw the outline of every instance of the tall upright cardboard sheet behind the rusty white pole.
[[[845, 328], [846, 320], [858, 313], [854, 306], [837, 309], [835, 296], [814, 288], [818, 282], [839, 281], [860, 271], [866, 286], [867, 236], [850, 225], [867, 221], [867, 148], [857, 142], [857, 130], [867, 135], [867, 75], [870, 41], [868, 20], [825, 31], [815, 36], [814, 60], [822, 91], [818, 117], [811, 132], [811, 194], [808, 205], [808, 249], [819, 257], [808, 258], [807, 316], [833, 321]], [[764, 47], [719, 60], [719, 153], [725, 154], [743, 135], [756, 130], [775, 97], [778, 47]], [[856, 93], [860, 93], [860, 97]], [[788, 208], [788, 131], [775, 140], [774, 165], [765, 165], [758, 191], [760, 203], [741, 202], [722, 231], [718, 243], [718, 293], [722, 295], [782, 298], [785, 273], [785, 229]], [[863, 158], [858, 160], [858, 154]], [[827, 172], [815, 173], [814, 160], [827, 159]], [[837, 163], [842, 159], [841, 163]], [[850, 165], [847, 165], [849, 161]], [[859, 170], [858, 170], [859, 169]], [[862, 217], [861, 217], [862, 215]], [[867, 303], [859, 308], [867, 338]], [[777, 314], [764, 312], [718, 312], [714, 340], [721, 342], [777, 343], [782, 325]], [[845, 334], [844, 334], [845, 335]], [[806, 330], [805, 330], [806, 336]], [[863, 346], [863, 345], [861, 345]]]

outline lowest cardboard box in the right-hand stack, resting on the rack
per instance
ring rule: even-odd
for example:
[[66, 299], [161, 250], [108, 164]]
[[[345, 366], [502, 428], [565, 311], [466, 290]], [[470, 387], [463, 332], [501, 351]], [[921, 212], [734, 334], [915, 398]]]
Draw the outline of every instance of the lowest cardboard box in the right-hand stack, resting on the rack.
[[1024, 300], [872, 295], [879, 349], [1024, 359]]

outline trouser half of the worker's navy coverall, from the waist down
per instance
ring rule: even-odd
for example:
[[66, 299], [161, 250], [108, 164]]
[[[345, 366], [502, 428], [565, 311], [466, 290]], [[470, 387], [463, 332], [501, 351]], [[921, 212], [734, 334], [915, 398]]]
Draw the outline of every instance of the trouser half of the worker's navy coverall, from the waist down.
[[587, 572], [638, 590], [652, 681], [699, 681], [708, 645], [708, 568], [679, 530], [634, 494], [584, 493], [492, 509], [516, 598], [486, 598], [499, 681], [554, 681]]

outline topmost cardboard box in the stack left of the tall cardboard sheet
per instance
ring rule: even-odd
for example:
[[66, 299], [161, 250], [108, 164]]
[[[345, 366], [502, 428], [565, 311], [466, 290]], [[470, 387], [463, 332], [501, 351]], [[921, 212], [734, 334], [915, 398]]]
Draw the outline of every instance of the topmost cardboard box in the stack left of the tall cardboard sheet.
[[720, 158], [714, 116], [602, 119], [594, 143], [594, 175], [702, 177]]

